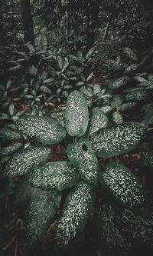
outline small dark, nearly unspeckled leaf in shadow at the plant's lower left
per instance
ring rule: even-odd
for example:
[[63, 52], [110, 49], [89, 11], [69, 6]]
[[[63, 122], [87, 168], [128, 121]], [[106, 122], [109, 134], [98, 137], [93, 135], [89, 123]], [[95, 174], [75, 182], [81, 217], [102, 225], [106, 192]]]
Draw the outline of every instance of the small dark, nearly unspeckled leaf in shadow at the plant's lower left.
[[25, 177], [18, 183], [13, 203], [18, 208], [25, 208], [28, 206], [31, 198], [34, 198], [34, 196], [37, 194], [37, 191], [39, 191], [39, 189], [32, 187], [28, 182], [27, 177]]

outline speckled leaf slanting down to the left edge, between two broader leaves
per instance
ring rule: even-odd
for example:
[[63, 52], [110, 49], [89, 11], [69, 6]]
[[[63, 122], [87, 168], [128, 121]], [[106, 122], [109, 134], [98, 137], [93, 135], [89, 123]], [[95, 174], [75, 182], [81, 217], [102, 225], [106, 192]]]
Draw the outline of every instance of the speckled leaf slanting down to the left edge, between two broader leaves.
[[31, 169], [44, 163], [50, 158], [50, 148], [32, 146], [12, 155], [5, 167], [3, 176], [15, 177], [25, 175]]

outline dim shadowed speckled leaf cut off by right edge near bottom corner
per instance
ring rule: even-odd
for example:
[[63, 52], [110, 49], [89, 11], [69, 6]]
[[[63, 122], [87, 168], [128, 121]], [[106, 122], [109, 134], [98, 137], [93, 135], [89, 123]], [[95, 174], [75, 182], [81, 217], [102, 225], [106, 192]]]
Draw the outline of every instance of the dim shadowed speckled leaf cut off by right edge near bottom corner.
[[116, 227], [132, 244], [153, 247], [153, 218], [147, 220], [125, 209], [116, 215]]

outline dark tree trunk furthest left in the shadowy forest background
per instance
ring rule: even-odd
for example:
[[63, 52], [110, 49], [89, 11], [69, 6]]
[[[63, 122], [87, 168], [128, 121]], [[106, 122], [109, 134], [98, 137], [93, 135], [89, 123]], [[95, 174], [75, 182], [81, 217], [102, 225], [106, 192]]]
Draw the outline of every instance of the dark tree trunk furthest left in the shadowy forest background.
[[34, 26], [31, 17], [30, 0], [21, 0], [21, 16], [24, 29], [24, 42], [34, 45]]

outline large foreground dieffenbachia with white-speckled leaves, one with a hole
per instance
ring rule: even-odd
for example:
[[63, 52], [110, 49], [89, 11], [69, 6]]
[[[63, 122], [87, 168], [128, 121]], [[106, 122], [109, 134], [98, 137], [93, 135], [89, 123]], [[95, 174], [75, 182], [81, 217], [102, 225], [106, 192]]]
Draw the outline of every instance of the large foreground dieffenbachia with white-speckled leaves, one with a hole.
[[[26, 115], [18, 118], [15, 121], [18, 132], [37, 145], [15, 153], [2, 174], [5, 177], [25, 175], [18, 185], [15, 204], [28, 205], [26, 231], [30, 244], [41, 240], [53, 221], [61, 191], [72, 188], [54, 230], [57, 251], [67, 251], [78, 240], [93, 213], [99, 190], [106, 191], [112, 200], [142, 218], [148, 217], [149, 212], [147, 195], [132, 171], [112, 161], [99, 172], [97, 158], [132, 150], [145, 137], [147, 125], [136, 122], [110, 125], [106, 114], [99, 109], [89, 115], [86, 99], [80, 91], [71, 92], [67, 98], [64, 120], [65, 128], [49, 117]], [[70, 161], [47, 162], [50, 145], [63, 141], [66, 131], [72, 141], [67, 145]], [[99, 208], [99, 228], [108, 246], [113, 248], [118, 244], [120, 248], [125, 241], [120, 231], [116, 238], [115, 234], [110, 238], [103, 229], [103, 221], [106, 227], [105, 219], [109, 219], [109, 228], [117, 230], [111, 211], [109, 206], [107, 212], [105, 206]], [[125, 242], [125, 254], [129, 244]]]

